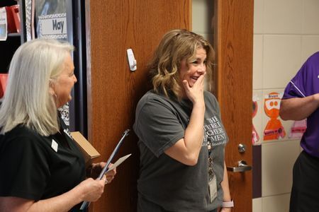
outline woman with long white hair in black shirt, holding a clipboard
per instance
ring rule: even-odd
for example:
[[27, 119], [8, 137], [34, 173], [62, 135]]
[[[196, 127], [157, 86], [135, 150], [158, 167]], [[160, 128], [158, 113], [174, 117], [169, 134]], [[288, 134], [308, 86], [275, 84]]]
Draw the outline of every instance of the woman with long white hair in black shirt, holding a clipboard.
[[[98, 200], [116, 174], [86, 179], [82, 152], [57, 112], [77, 82], [72, 50], [67, 42], [36, 39], [13, 55], [0, 108], [0, 211], [77, 210]], [[87, 171], [99, 174], [103, 166]]]

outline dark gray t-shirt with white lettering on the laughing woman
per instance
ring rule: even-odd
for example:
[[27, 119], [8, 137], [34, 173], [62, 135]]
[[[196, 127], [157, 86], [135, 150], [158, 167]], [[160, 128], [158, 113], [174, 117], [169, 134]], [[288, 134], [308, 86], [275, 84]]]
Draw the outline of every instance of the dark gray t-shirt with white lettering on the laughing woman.
[[[140, 149], [138, 211], [211, 211], [221, 206], [223, 191], [220, 182], [223, 180], [228, 136], [220, 120], [216, 98], [205, 91], [204, 100], [204, 140], [198, 163], [194, 166], [184, 165], [164, 153], [184, 138], [192, 102], [178, 102], [153, 91], [147, 92], [138, 102], [133, 126]], [[208, 192], [207, 141], [212, 141], [211, 157], [218, 191], [213, 202], [210, 202]]]

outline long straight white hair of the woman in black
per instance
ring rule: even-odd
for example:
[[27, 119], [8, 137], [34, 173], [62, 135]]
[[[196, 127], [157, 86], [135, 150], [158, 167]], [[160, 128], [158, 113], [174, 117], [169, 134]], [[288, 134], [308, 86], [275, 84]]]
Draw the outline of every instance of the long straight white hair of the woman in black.
[[9, 80], [0, 108], [1, 134], [23, 124], [43, 136], [59, 131], [57, 107], [49, 93], [74, 47], [67, 42], [35, 39], [13, 55]]

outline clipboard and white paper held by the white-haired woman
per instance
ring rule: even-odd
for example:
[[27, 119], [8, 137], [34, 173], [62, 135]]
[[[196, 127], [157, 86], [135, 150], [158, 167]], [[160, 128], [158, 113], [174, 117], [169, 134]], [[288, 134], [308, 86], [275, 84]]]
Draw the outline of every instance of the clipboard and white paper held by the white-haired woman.
[[[114, 163], [114, 165], [112, 165], [111, 168], [109, 168], [108, 166], [110, 165], [111, 161], [113, 160], [114, 156], [116, 155], [116, 153], [118, 152], [118, 149], [120, 148], [120, 146], [122, 145], [124, 139], [126, 136], [128, 136], [128, 132], [130, 131], [130, 129], [126, 129], [123, 132], [123, 135], [121, 137], [121, 140], [118, 141], [118, 144], [116, 145], [116, 148], [114, 148], [113, 152], [111, 153], [110, 158], [108, 158], [108, 160], [106, 161], [106, 165], [103, 167], [103, 170], [101, 170], [99, 177], [97, 177], [96, 179], [101, 180], [103, 178], [103, 175], [106, 174], [106, 172], [108, 172], [108, 170], [113, 170], [116, 166], [120, 165], [124, 160], [126, 160], [126, 158], [128, 158], [130, 156], [129, 155], [125, 155], [124, 157], [118, 159], [118, 161], [116, 161], [116, 163]], [[115, 166], [116, 164], [116, 166]], [[80, 210], [84, 210], [89, 206], [90, 202], [89, 201], [84, 201], [80, 207]]]

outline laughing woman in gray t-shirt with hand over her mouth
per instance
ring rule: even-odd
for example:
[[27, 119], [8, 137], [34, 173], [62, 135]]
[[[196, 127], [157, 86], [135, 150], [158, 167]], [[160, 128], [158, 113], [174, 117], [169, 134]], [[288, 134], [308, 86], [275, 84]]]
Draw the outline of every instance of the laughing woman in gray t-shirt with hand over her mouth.
[[171, 30], [150, 62], [153, 89], [138, 102], [138, 211], [230, 211], [218, 102], [204, 90], [214, 51], [201, 35]]

